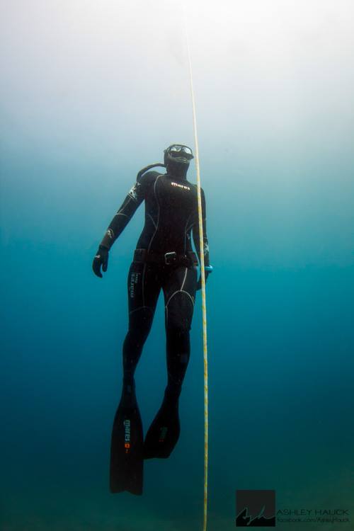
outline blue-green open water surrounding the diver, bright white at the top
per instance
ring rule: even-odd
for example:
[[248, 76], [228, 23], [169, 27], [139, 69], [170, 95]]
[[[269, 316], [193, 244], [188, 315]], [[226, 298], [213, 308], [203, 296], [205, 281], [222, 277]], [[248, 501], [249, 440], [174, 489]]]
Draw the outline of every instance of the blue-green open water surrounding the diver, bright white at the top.
[[[111, 495], [143, 207], [104, 278], [91, 270], [137, 171], [193, 146], [182, 4], [0, 11], [0, 530], [201, 529], [200, 295], [176, 450], [145, 463], [143, 496]], [[354, 529], [354, 6], [194, 1], [186, 19], [215, 268], [208, 529], [235, 527], [236, 489], [275, 489], [277, 509], [348, 509], [350, 523], [299, 527]], [[136, 375], [144, 430], [164, 341], [160, 299]]]

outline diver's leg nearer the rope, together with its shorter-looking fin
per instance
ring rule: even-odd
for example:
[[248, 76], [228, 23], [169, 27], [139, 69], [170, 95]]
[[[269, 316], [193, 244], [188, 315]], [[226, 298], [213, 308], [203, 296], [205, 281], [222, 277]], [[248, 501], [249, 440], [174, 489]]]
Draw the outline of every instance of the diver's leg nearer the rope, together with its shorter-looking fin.
[[190, 357], [189, 331], [192, 323], [197, 272], [179, 267], [164, 279], [167, 386], [164, 401], [144, 441], [144, 458], [169, 457], [178, 441], [178, 399]]

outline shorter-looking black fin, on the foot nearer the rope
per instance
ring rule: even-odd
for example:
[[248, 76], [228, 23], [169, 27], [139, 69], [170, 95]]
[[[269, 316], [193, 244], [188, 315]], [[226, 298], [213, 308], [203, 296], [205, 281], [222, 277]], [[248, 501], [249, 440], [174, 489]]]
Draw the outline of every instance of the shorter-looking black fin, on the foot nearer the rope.
[[144, 440], [144, 459], [171, 455], [179, 438], [181, 426], [178, 416], [178, 399], [165, 398]]

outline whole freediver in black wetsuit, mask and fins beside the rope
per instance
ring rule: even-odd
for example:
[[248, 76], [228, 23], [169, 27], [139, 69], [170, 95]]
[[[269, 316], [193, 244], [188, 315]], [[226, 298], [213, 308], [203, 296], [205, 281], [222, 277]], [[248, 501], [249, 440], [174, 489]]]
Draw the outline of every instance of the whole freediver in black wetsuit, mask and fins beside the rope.
[[[197, 186], [187, 181], [192, 150], [172, 144], [164, 150], [164, 164], [139, 171], [122, 206], [113, 217], [93, 259], [93, 273], [107, 271], [111, 246], [137, 207], [145, 201], [145, 223], [137, 241], [127, 278], [129, 328], [123, 343], [122, 396], [113, 423], [110, 449], [110, 491], [142, 494], [143, 459], [169, 457], [180, 433], [178, 399], [190, 357], [192, 322], [200, 263]], [[148, 171], [166, 167], [166, 173]], [[205, 280], [212, 270], [202, 195]], [[191, 234], [198, 258], [193, 252]], [[160, 290], [164, 292], [167, 386], [164, 400], [143, 439], [135, 396], [135, 369], [152, 326]]]

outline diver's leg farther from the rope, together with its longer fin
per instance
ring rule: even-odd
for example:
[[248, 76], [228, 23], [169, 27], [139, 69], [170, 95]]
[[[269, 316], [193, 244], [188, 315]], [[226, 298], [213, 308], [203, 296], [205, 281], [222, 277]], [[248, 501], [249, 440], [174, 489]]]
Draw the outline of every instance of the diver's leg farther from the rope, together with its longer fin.
[[113, 423], [110, 447], [110, 490], [142, 494], [143, 431], [134, 374], [152, 326], [159, 297], [156, 268], [132, 263], [128, 274], [129, 329], [123, 344], [122, 396]]

